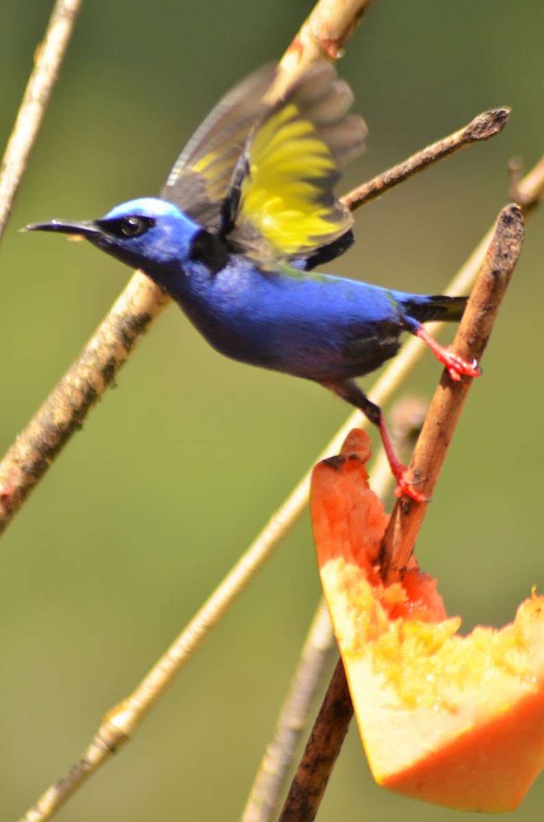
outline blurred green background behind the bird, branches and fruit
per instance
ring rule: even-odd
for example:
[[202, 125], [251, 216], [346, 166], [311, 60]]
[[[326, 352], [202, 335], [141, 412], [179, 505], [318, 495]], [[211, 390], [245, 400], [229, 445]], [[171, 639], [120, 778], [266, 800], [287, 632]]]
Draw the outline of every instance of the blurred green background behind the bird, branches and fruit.
[[[17, 229], [157, 192], [205, 113], [283, 53], [311, 5], [86, 4], [2, 244], [2, 450], [129, 276], [90, 246]], [[51, 6], [2, 2], [2, 142]], [[445, 287], [505, 204], [509, 158], [529, 168], [542, 150], [542, 44], [539, 0], [376, 0], [339, 64], [370, 129], [341, 191], [483, 109], [513, 113], [502, 135], [360, 211], [356, 246], [330, 270]], [[509, 621], [542, 584], [543, 223], [542, 210], [528, 223], [485, 376], [417, 546], [467, 629]], [[428, 355], [404, 393], [430, 396], [439, 376]], [[220, 358], [168, 308], [2, 540], [2, 820], [76, 760], [346, 414], [310, 383]], [[59, 820], [237, 820], [319, 594], [305, 515], [135, 740]], [[516, 822], [540, 818], [543, 784]], [[399, 817], [457, 818], [377, 788], [352, 728], [318, 819]]]

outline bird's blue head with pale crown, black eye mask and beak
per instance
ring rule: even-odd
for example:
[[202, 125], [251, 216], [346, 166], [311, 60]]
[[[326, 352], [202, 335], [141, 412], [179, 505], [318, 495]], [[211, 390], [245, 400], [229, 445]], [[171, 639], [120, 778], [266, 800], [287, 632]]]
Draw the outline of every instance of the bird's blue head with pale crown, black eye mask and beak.
[[30, 231], [58, 231], [74, 234], [92, 242], [104, 252], [141, 268], [156, 283], [168, 290], [172, 278], [191, 263], [210, 264], [215, 270], [224, 266], [227, 252], [218, 238], [184, 215], [173, 203], [157, 197], [141, 197], [116, 205], [99, 219], [81, 223], [28, 225]]

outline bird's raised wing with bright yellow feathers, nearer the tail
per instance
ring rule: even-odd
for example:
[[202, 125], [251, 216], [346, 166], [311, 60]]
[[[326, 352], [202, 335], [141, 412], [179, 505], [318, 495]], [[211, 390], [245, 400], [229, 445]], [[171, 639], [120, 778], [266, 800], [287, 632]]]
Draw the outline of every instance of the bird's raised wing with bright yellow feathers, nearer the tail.
[[234, 249], [260, 261], [310, 257], [349, 231], [333, 189], [367, 132], [352, 103], [334, 67], [316, 62], [256, 123], [224, 205], [220, 230]]

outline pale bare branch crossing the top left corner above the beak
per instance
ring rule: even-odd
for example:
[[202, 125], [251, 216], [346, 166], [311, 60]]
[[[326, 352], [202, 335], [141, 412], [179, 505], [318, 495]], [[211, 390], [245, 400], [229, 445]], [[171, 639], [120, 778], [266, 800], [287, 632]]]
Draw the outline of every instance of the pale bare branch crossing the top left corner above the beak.
[[57, 0], [44, 40], [35, 52], [35, 66], [26, 85], [0, 172], [0, 238], [12, 211], [30, 151], [44, 118], [58, 71], [66, 53], [82, 0]]

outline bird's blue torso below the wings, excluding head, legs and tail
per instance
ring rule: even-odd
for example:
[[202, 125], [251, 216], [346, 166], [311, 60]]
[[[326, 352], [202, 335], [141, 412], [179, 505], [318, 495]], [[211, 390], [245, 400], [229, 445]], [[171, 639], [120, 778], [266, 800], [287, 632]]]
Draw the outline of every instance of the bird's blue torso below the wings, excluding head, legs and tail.
[[330, 275], [263, 272], [233, 258], [218, 274], [191, 264], [168, 283], [215, 349], [316, 381], [361, 376], [399, 348], [399, 304], [377, 286]]

